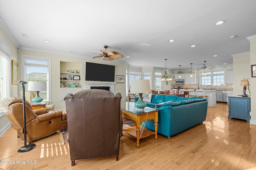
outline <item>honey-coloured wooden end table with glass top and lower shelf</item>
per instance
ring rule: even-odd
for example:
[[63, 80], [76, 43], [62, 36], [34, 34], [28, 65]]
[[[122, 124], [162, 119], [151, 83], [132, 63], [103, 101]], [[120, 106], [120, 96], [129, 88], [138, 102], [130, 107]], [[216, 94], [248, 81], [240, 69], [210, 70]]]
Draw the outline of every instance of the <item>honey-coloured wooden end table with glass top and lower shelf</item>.
[[[131, 119], [134, 121], [135, 126], [128, 129], [124, 129], [126, 133], [137, 138], [137, 147], [140, 147], [140, 138], [148, 137], [155, 134], [155, 139], [157, 139], [157, 128], [158, 128], [158, 110], [150, 107], [145, 107], [143, 111], [137, 109], [133, 102], [126, 102], [125, 106], [121, 107], [121, 115], [124, 118]], [[141, 123], [152, 119], [154, 120], [155, 131], [150, 131], [146, 127], [143, 129]], [[143, 129], [143, 132], [142, 132]], [[142, 133], [142, 134], [141, 134]]]

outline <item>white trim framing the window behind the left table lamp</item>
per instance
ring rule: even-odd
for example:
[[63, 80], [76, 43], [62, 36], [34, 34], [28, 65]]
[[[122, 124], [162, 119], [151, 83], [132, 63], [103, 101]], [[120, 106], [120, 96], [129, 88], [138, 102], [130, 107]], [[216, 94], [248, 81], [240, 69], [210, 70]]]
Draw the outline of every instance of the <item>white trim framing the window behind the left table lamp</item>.
[[44, 59], [49, 60], [49, 102], [52, 102], [52, 59], [50, 57], [41, 57], [41, 56], [33, 56], [33, 55], [21, 55], [21, 80], [25, 80], [25, 73], [24, 73], [24, 58], [30, 57], [30, 58], [36, 58], [36, 59]]

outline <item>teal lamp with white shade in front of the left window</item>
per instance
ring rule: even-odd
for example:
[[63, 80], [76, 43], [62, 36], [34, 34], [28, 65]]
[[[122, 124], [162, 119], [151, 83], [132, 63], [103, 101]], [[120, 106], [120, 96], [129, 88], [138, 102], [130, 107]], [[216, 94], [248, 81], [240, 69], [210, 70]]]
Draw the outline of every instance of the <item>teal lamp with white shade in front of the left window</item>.
[[28, 82], [28, 91], [36, 91], [36, 97], [32, 98], [31, 101], [34, 103], [40, 103], [44, 99], [39, 96], [40, 91], [46, 90], [46, 82], [31, 81]]

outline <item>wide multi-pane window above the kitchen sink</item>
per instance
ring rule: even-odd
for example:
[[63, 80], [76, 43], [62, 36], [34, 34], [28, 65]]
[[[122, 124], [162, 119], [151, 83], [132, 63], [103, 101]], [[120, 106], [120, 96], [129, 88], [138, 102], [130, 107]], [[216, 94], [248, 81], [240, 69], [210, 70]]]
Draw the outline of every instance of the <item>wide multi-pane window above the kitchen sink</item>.
[[224, 80], [224, 70], [206, 72], [201, 72], [201, 86], [223, 86], [225, 84]]

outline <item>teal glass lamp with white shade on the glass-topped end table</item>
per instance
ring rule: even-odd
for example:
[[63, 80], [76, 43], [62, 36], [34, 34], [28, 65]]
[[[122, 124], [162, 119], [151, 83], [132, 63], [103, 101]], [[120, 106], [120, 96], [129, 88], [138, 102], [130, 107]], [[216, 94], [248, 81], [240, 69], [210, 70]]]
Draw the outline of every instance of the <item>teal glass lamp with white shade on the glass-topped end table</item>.
[[130, 91], [139, 94], [139, 100], [134, 103], [134, 106], [138, 109], [144, 109], [147, 104], [142, 100], [142, 94], [150, 92], [149, 80], [132, 80]]

